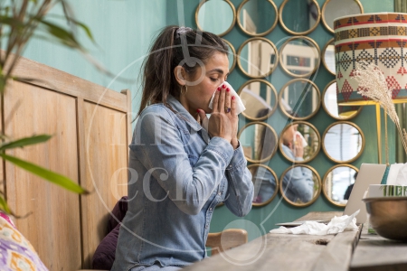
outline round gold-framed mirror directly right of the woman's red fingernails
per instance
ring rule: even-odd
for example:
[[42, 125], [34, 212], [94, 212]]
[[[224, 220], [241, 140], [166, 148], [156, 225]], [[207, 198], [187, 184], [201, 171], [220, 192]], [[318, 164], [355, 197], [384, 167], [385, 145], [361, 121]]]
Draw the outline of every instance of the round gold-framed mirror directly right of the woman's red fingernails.
[[277, 109], [277, 91], [266, 80], [249, 80], [241, 86], [238, 94], [246, 107], [241, 114], [251, 120], [266, 119]]

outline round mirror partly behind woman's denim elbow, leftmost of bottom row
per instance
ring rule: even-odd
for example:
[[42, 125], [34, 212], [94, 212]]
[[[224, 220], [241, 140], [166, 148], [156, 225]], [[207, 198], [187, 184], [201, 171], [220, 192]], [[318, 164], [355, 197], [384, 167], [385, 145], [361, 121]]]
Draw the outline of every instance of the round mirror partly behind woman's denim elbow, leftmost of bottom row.
[[254, 186], [253, 206], [269, 204], [279, 192], [276, 173], [264, 164], [251, 164], [247, 168], [251, 172], [251, 182]]

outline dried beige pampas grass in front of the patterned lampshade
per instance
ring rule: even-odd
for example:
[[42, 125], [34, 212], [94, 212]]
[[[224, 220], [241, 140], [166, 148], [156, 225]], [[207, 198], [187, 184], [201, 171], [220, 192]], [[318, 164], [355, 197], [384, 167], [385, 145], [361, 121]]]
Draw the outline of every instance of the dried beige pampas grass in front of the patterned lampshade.
[[[402, 146], [407, 154], [407, 133], [402, 131], [399, 117], [395, 110], [392, 92], [395, 86], [386, 82], [383, 71], [374, 63], [356, 62], [356, 69], [353, 77], [359, 84], [357, 93], [367, 98], [371, 98], [383, 107], [384, 112], [393, 120], [396, 125], [400, 137], [402, 138]], [[387, 142], [386, 142], [387, 145]]]

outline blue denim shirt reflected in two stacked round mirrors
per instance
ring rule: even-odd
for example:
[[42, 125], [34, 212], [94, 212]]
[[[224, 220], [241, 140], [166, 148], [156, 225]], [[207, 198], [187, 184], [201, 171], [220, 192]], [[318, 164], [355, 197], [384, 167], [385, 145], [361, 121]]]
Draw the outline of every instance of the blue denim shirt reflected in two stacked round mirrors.
[[[295, 157], [288, 146], [281, 145], [281, 147], [284, 154], [289, 156], [291, 160], [304, 161], [302, 157]], [[303, 166], [289, 170], [283, 178], [283, 191], [289, 201], [296, 202], [298, 199], [304, 203], [311, 201], [314, 195], [312, 171]]]

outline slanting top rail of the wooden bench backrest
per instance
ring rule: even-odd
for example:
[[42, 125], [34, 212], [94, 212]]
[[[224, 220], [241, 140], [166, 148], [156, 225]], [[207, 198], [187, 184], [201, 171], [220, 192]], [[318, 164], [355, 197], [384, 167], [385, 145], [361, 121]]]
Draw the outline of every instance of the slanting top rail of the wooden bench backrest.
[[22, 79], [35, 79], [33, 84], [46, 89], [60, 91], [122, 112], [128, 110], [125, 95], [35, 61], [21, 58], [13, 74]]

